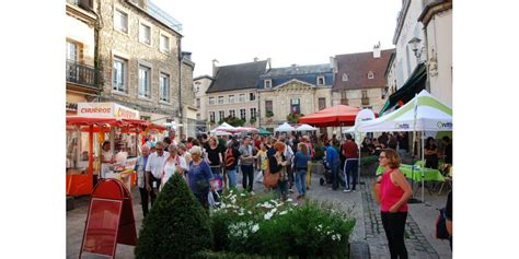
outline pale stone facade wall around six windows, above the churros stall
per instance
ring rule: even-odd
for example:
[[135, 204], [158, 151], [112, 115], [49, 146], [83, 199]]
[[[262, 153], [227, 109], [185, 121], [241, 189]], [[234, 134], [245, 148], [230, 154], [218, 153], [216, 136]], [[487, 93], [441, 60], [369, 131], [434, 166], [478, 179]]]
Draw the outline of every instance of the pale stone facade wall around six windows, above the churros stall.
[[[114, 12], [119, 9], [128, 14], [128, 33], [114, 28]], [[180, 34], [165, 27], [143, 11], [123, 0], [101, 0], [100, 15], [103, 27], [100, 31], [99, 49], [103, 71], [102, 98], [126, 104], [141, 111], [176, 115], [178, 110], [178, 43]], [[151, 45], [139, 42], [139, 24], [151, 27]], [[160, 35], [170, 37], [170, 52], [159, 50]], [[127, 93], [112, 90], [113, 57], [127, 60]], [[138, 93], [139, 63], [151, 67], [151, 97], [143, 98]], [[160, 73], [170, 75], [170, 102], [159, 99]], [[193, 78], [193, 73], [187, 73]]]

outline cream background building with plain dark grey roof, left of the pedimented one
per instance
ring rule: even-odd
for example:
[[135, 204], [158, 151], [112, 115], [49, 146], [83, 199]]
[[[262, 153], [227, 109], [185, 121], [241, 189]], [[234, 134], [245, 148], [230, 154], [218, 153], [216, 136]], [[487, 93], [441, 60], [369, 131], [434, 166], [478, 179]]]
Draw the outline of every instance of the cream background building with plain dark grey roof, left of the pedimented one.
[[212, 63], [214, 81], [206, 91], [207, 116], [210, 126], [226, 117], [245, 120], [245, 126], [257, 125], [257, 81], [270, 67], [269, 60], [257, 60], [218, 67]]

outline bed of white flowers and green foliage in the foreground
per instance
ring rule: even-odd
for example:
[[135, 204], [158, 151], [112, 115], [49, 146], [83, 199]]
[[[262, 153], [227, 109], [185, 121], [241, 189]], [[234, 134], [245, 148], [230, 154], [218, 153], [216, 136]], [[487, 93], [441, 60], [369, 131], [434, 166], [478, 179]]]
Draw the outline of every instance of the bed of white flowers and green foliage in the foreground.
[[231, 190], [211, 212], [210, 225], [216, 252], [347, 258], [355, 220], [327, 203], [299, 205], [291, 199], [278, 201], [274, 193]]

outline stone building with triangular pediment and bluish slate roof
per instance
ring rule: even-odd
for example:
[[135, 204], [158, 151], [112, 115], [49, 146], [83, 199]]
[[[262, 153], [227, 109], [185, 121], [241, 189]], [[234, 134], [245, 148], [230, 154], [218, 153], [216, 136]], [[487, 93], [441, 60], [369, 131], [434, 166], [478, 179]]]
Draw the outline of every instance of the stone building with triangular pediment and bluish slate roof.
[[289, 114], [313, 114], [332, 105], [330, 63], [274, 68], [260, 76], [261, 127], [273, 131]]

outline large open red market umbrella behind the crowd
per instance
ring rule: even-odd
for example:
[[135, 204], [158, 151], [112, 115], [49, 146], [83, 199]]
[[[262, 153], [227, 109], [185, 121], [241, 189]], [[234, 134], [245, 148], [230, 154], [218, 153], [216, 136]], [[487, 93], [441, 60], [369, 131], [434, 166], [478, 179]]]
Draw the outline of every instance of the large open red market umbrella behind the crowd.
[[319, 127], [354, 126], [359, 111], [357, 107], [335, 105], [299, 118], [299, 123]]

